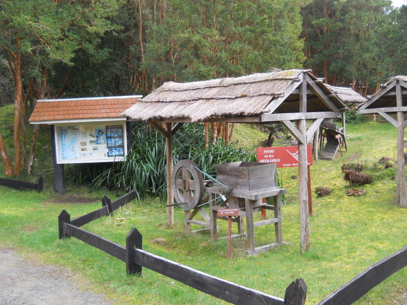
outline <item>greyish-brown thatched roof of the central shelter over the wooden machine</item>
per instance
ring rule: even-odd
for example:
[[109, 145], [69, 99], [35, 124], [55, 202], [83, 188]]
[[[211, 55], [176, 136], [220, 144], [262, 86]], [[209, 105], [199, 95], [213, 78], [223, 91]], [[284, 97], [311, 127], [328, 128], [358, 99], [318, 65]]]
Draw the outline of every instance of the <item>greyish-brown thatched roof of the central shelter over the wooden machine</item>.
[[[188, 83], [166, 82], [122, 116], [139, 121], [189, 119], [193, 122], [214, 117], [258, 116], [275, 99], [283, 97], [290, 85], [302, 81], [304, 72], [317, 80], [310, 70], [293, 69]], [[326, 95], [332, 93], [325, 84], [316, 83]], [[290, 103], [285, 108], [281, 105], [276, 113], [298, 112], [298, 93], [289, 96]], [[314, 100], [316, 103], [318, 99], [314, 97]], [[337, 108], [346, 108], [337, 97], [331, 100]], [[311, 105], [309, 111], [321, 107], [325, 106], [319, 102]]]

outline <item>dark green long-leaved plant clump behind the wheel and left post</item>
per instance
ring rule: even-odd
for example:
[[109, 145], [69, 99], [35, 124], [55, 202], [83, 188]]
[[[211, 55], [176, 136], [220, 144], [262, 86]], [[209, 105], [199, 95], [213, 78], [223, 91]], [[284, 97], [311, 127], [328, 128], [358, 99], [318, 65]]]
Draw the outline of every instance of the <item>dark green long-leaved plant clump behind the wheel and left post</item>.
[[[137, 197], [148, 194], [166, 196], [165, 138], [155, 129], [148, 132], [146, 124], [134, 123], [133, 144], [123, 162], [86, 164], [72, 168], [76, 184], [90, 184], [93, 189], [105, 187], [117, 193], [135, 190]], [[198, 168], [212, 176], [214, 165], [235, 161], [255, 161], [256, 156], [222, 140], [205, 148], [205, 129], [202, 124], [184, 124], [173, 136], [174, 163], [193, 160]]]

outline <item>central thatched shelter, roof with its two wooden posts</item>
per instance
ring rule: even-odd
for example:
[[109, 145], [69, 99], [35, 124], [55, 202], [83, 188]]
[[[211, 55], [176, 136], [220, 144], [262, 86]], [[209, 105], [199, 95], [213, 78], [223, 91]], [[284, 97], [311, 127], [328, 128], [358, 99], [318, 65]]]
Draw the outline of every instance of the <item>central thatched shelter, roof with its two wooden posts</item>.
[[[165, 136], [168, 205], [173, 205], [172, 135], [183, 123], [282, 123], [298, 141], [300, 239], [304, 252], [309, 249], [306, 144], [325, 118], [338, 117], [346, 109], [338, 93], [310, 70], [293, 69], [190, 83], [166, 82], [122, 116], [149, 122]], [[308, 129], [306, 120], [312, 120]], [[173, 226], [173, 206], [167, 209], [167, 224]]]

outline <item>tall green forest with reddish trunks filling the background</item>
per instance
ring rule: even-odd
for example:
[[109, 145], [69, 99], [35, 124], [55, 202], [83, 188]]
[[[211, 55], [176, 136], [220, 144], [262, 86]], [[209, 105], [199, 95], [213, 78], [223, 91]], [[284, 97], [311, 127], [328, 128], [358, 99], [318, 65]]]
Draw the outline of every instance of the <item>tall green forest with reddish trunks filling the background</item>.
[[[407, 6], [387, 0], [1, 0], [8, 175], [32, 171], [38, 99], [143, 96], [164, 81], [309, 68], [362, 95], [407, 74]], [[3, 135], [13, 135], [14, 170]], [[31, 136], [31, 133], [30, 133]]]

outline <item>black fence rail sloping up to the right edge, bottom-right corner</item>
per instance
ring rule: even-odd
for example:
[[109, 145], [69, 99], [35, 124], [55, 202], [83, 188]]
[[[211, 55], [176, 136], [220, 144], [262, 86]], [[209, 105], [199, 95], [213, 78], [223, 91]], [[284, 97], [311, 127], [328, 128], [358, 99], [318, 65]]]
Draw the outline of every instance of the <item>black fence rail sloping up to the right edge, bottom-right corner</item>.
[[358, 276], [332, 292], [317, 305], [352, 304], [370, 289], [407, 266], [407, 246], [366, 268]]

